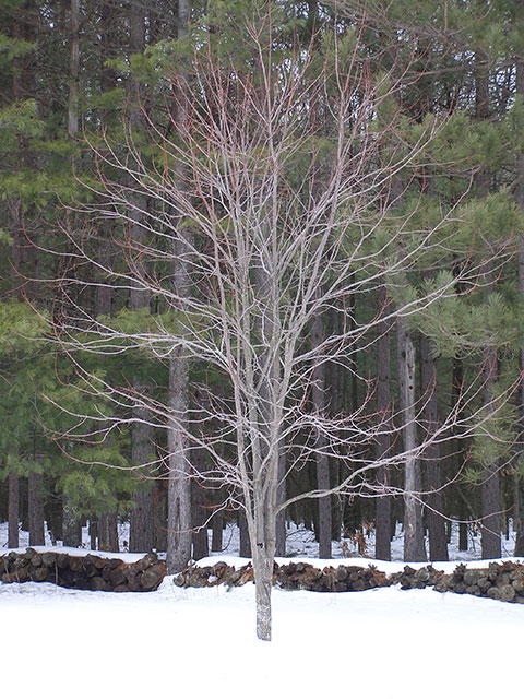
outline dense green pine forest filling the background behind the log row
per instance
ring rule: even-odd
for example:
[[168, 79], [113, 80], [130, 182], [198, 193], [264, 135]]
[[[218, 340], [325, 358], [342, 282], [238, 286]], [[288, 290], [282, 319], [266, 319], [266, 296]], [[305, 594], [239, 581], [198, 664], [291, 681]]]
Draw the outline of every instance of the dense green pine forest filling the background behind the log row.
[[[177, 570], [207, 554], [207, 529], [218, 550], [231, 520], [241, 555], [269, 542], [284, 555], [287, 518], [315, 532], [322, 558], [344, 530], [371, 525], [388, 559], [403, 522], [406, 560], [425, 559], [425, 538], [430, 559], [445, 560], [455, 519], [463, 545], [475, 522], [483, 557], [495, 558], [511, 519], [524, 555], [523, 4], [4, 0], [0, 519], [10, 547], [21, 521], [33, 545], [47, 521], [72, 546], [88, 521], [92, 547], [116, 550], [117, 522], [129, 519], [130, 550], [167, 550]], [[275, 99], [258, 119], [275, 95], [287, 112]], [[267, 115], [288, 140], [264, 141]], [[227, 149], [210, 123], [229, 129]], [[263, 256], [250, 269], [247, 346], [260, 379], [255, 406], [249, 390], [245, 401], [258, 414], [239, 427], [209, 325], [230, 310], [214, 283], [229, 279], [216, 234], [235, 228], [235, 194], [221, 200], [228, 216], [210, 202], [218, 163], [247, 174], [241, 216], [260, 252], [253, 222], [269, 206], [257, 198], [272, 171], [260, 163], [275, 143], [286, 154], [276, 235], [298, 245], [307, 221], [334, 232], [336, 254], [310, 248], [327, 271], [305, 301], [300, 381], [281, 413], [264, 371], [285, 354], [270, 340], [288, 307], [264, 316], [275, 275], [261, 273]], [[306, 277], [289, 269], [281, 281], [297, 297]], [[344, 284], [330, 296], [336, 275]], [[257, 458], [273, 474], [271, 497], [260, 496], [273, 533], [265, 514], [257, 531]]]

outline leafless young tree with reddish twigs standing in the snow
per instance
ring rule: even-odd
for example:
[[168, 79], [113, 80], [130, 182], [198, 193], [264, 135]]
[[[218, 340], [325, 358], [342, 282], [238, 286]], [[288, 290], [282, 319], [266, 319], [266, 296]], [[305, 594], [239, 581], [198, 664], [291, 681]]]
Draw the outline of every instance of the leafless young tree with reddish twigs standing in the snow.
[[[395, 318], [407, 322], [420, 308], [453, 294], [456, 282], [451, 277], [366, 321], [346, 311], [340, 325], [314, 331], [324, 312], [342, 313], [348, 299], [378, 294], [384, 279], [389, 288], [395, 280], [402, 284], [430, 246], [445, 249], [450, 216], [412, 235], [409, 217], [400, 224], [383, 196], [394, 177], [402, 175], [409, 185], [437, 118], [418, 126], [408, 146], [400, 114], [390, 111], [379, 127], [381, 104], [408, 79], [393, 72], [372, 78], [358, 33], [345, 43], [336, 34], [324, 37], [314, 51], [283, 54], [277, 42], [267, 40], [272, 32], [267, 17], [247, 22], [250, 60], [241, 64], [200, 46], [189, 73], [171, 78], [176, 105], [170, 112], [182, 110], [183, 119], [175, 116], [160, 129], [146, 118], [151, 145], [145, 155], [131, 132], [123, 155], [109, 137], [104, 147], [93, 144], [100, 167], [98, 199], [90, 211], [102, 221], [127, 223], [140, 214], [144, 235], [128, 238], [121, 257], [147, 260], [147, 273], [141, 273], [145, 265], [99, 271], [110, 273], [114, 285], [140, 287], [159, 299], [159, 310], [146, 328], [133, 331], [79, 308], [60, 329], [70, 348], [106, 354], [141, 348], [168, 364], [170, 374], [174, 357], [177, 366], [198, 358], [223, 377], [219, 392], [199, 388], [205, 400], [192, 408], [183, 400], [186, 389], [177, 393], [171, 386], [163, 403], [88, 376], [79, 364], [92, 390], [119, 406], [118, 418], [99, 417], [100, 430], [124, 422], [122, 408], [129, 422], [146, 408], [142, 414], [150, 426], [168, 428], [171, 479], [186, 482], [191, 475], [188, 443], [206, 450], [206, 482], [226, 489], [246, 514], [257, 633], [263, 640], [271, 639], [277, 514], [301, 498], [327, 499], [327, 493], [373, 496], [386, 487], [393, 493], [383, 479], [377, 482], [377, 470], [418, 460], [427, 447], [406, 440], [402, 453], [385, 450], [373, 458], [384, 433], [400, 441], [395, 416], [390, 411], [371, 415], [370, 395], [350, 414], [330, 415], [327, 401], [318, 394], [319, 367], [335, 362], [354, 370], [356, 353], [377, 336], [373, 329]], [[121, 176], [108, 179], [108, 171]], [[138, 212], [144, 198], [154, 205]], [[401, 245], [406, 240], [410, 245]], [[81, 242], [75, 245], [84, 262], [100, 268]], [[79, 329], [85, 331], [81, 340]], [[451, 422], [456, 413], [428, 439], [445, 439]], [[340, 483], [333, 488], [323, 483], [278, 503], [283, 477], [318, 458], [337, 459]], [[408, 487], [416, 500], [415, 486]], [[169, 519], [171, 535], [187, 535], [190, 526]], [[178, 565], [170, 562], [170, 570]]]

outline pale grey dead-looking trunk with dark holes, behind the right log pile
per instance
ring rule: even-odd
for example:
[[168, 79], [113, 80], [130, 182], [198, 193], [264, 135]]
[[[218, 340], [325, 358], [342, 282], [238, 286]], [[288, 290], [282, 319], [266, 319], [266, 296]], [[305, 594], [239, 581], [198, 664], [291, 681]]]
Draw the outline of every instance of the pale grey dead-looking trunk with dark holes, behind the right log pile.
[[404, 440], [404, 560], [426, 560], [420, 505], [420, 464], [415, 422], [415, 350], [405, 319], [397, 318], [398, 388]]

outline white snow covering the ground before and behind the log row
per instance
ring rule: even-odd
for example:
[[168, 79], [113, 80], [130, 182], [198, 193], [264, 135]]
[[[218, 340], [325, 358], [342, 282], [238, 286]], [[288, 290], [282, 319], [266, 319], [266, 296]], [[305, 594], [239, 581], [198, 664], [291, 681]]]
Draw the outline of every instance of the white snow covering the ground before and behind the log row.
[[[227, 556], [214, 559], [241, 565], [234, 556], [238, 536], [229, 533]], [[308, 540], [301, 552], [298, 544], [291, 549], [296, 557], [314, 556], [305, 532], [289, 534], [296, 543]], [[401, 544], [402, 535], [394, 549]], [[475, 553], [471, 547], [464, 558]], [[452, 538], [457, 560], [455, 554]], [[273, 642], [262, 643], [252, 584], [180, 589], [168, 577], [146, 594], [0, 584], [0, 628], [2, 697], [487, 699], [508, 690], [520, 696], [519, 687], [522, 694], [524, 605], [431, 589], [275, 589]]]

